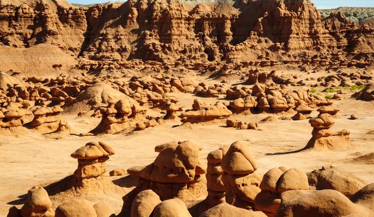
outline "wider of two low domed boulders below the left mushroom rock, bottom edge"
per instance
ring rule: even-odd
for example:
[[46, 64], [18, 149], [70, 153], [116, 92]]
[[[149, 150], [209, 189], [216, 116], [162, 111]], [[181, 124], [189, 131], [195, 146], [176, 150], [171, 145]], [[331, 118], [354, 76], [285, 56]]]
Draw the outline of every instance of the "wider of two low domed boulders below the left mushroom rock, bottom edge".
[[59, 205], [55, 217], [97, 217], [97, 214], [91, 202], [74, 199]]

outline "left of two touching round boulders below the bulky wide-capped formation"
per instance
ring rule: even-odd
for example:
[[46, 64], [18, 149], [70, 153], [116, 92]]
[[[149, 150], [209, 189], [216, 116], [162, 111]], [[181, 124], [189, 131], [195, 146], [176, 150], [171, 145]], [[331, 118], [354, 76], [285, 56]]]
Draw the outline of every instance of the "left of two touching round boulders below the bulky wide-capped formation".
[[154, 208], [161, 203], [160, 197], [152, 190], [141, 191], [131, 205], [131, 217], [149, 217]]

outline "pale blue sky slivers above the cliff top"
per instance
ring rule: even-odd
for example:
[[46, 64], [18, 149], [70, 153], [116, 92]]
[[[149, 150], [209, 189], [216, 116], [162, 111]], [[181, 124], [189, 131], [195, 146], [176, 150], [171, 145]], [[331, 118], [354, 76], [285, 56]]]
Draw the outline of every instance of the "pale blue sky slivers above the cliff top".
[[[109, 2], [109, 0], [68, 0], [71, 3], [77, 4], [95, 4], [95, 3], [105, 3]], [[112, 0], [115, 2], [116, 0]], [[125, 2], [126, 0], [122, 0]], [[337, 8], [342, 6], [347, 7], [374, 7], [374, 0], [311, 0], [317, 8], [319, 9], [329, 9], [329, 8]]]

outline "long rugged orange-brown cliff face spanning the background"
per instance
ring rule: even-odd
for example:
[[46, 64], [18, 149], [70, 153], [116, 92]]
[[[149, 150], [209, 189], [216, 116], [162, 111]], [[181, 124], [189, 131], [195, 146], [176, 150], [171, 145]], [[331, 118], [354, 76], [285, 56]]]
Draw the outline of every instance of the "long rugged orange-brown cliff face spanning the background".
[[0, 45], [28, 48], [48, 43], [75, 57], [100, 61], [267, 66], [306, 63], [322, 52], [343, 56], [334, 63], [328, 58], [327, 65], [345, 65], [346, 56], [362, 49], [366, 55], [373, 52], [374, 29], [366, 27], [358, 28], [340, 13], [321, 19], [307, 0], [198, 5], [130, 0], [89, 8], [64, 1], [0, 1]]

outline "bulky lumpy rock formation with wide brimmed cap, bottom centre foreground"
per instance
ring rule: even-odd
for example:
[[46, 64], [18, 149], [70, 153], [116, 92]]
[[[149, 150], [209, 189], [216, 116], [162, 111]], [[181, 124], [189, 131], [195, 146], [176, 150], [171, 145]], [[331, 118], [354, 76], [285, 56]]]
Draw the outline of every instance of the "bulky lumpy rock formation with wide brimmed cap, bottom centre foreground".
[[[160, 146], [161, 147], [161, 146]], [[130, 175], [139, 177], [137, 187], [123, 197], [124, 204], [134, 200], [136, 194], [151, 189], [161, 200], [179, 198], [183, 201], [196, 200], [204, 193], [204, 179], [200, 177], [205, 169], [199, 162], [199, 147], [189, 141], [162, 145], [155, 161], [145, 167], [128, 169]], [[127, 207], [122, 207], [126, 212]]]

